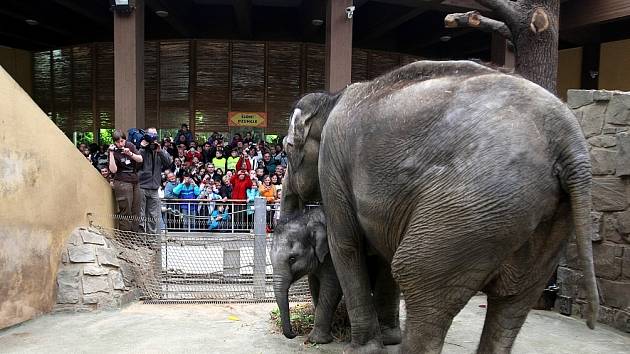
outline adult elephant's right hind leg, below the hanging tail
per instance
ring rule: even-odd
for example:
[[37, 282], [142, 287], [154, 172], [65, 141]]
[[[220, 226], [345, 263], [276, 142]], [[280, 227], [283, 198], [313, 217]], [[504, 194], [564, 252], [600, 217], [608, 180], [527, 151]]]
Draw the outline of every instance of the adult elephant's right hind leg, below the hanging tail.
[[478, 353], [511, 351], [529, 310], [558, 264], [560, 249], [571, 230], [570, 220], [569, 207], [562, 204], [553, 220], [541, 223], [486, 286], [488, 312]]

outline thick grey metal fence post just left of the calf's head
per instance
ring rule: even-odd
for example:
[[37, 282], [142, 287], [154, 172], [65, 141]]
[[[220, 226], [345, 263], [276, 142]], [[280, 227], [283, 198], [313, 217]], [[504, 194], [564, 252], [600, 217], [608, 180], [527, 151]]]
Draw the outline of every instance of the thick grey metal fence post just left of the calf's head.
[[257, 197], [254, 200], [254, 298], [263, 299], [265, 297], [265, 278], [267, 267], [267, 200]]

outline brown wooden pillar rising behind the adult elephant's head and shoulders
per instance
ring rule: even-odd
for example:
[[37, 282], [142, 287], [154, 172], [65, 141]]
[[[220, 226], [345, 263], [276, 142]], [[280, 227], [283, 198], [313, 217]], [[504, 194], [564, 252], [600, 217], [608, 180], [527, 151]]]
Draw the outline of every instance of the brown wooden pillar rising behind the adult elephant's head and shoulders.
[[338, 92], [352, 74], [352, 19], [346, 8], [352, 0], [328, 0], [326, 11], [326, 91]]

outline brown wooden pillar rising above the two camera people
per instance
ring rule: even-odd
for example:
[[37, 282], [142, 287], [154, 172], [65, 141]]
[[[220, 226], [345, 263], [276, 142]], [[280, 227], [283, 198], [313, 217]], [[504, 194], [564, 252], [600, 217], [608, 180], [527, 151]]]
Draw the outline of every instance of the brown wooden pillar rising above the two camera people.
[[114, 125], [144, 126], [144, 0], [128, 15], [114, 12]]

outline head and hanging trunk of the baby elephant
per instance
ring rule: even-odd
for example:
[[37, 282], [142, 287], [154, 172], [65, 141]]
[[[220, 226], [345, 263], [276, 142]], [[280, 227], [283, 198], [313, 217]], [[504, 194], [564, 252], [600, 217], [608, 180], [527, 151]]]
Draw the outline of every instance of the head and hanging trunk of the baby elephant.
[[282, 333], [294, 338], [289, 317], [289, 287], [317, 270], [328, 255], [324, 213], [320, 209], [282, 220], [271, 248], [273, 290], [280, 309]]

